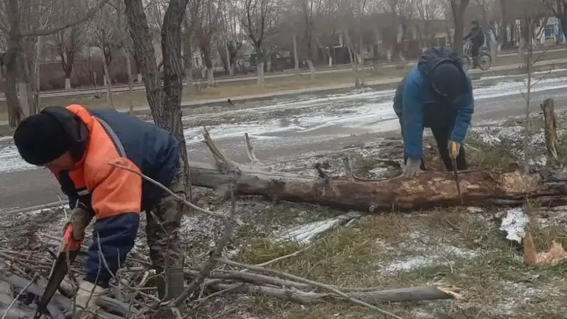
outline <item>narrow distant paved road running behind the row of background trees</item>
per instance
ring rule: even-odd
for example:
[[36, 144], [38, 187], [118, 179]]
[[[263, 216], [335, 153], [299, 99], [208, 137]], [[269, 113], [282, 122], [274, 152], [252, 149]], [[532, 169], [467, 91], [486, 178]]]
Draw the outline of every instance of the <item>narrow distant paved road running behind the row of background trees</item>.
[[[567, 50], [566, 48], [556, 48], [556, 49], [550, 49], [547, 50], [546, 52], [560, 52], [560, 51], [564, 51]], [[541, 51], [536, 51], [534, 52], [534, 55], [537, 55], [537, 53], [539, 53]], [[500, 53], [500, 55], [498, 55], [499, 57], [508, 57], [508, 56], [514, 56], [517, 55], [517, 52], [503, 52]], [[414, 65], [415, 62], [410, 62], [409, 65]], [[380, 64], [381, 67], [395, 67], [395, 65], [398, 65], [398, 63], [383, 63]], [[363, 67], [364, 69], [371, 69], [373, 68], [374, 65], [369, 65], [366, 67]], [[348, 65], [344, 65], [344, 66], [340, 66], [340, 67], [333, 67], [333, 68], [325, 68], [325, 69], [319, 69], [317, 71], [317, 74], [332, 74], [332, 73], [341, 73], [341, 72], [350, 72], [351, 68]], [[302, 71], [300, 72], [301, 75], [308, 75], [309, 71]], [[266, 79], [272, 79], [272, 78], [283, 78], [283, 77], [293, 77], [296, 75], [296, 72], [293, 71], [286, 71], [286, 72], [276, 72], [274, 74], [266, 74], [265, 77]], [[256, 76], [236, 76], [236, 77], [218, 77], [217, 79], [215, 79], [215, 82], [218, 83], [225, 83], [225, 82], [242, 82], [242, 81], [255, 81], [257, 79]], [[203, 84], [206, 83], [206, 80], [196, 80], [193, 81], [193, 84]], [[142, 84], [135, 84], [134, 88], [135, 91], [138, 90], [143, 90], [145, 89], [145, 86], [143, 86]], [[116, 85], [113, 86], [113, 92], [118, 93], [118, 92], [125, 92], [128, 91], [128, 85]], [[41, 96], [43, 97], [56, 97], [56, 96], [77, 96], [77, 95], [87, 95], [87, 94], [95, 94], [97, 92], [104, 92], [105, 89], [103, 87], [100, 87], [99, 89], [72, 89], [72, 90], [57, 90], [57, 91], [42, 91], [41, 92]], [[5, 101], [6, 98], [4, 98], [4, 94], [0, 94], [0, 101]]]

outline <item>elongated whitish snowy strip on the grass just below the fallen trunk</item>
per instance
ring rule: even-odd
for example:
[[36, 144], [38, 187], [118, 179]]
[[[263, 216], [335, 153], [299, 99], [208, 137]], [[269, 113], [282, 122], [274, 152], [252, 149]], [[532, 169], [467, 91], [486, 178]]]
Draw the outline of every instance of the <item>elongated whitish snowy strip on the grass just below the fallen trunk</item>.
[[332, 230], [339, 225], [344, 225], [345, 223], [348, 223], [354, 218], [359, 218], [360, 216], [363, 216], [363, 214], [360, 212], [349, 211], [349, 213], [339, 215], [335, 218], [315, 221], [306, 225], [299, 225], [291, 229], [279, 232], [274, 236], [274, 241], [292, 241], [298, 242], [301, 245], [308, 245], [313, 242], [313, 239], [315, 239], [315, 237], [318, 237], [322, 233], [325, 233], [328, 230]]

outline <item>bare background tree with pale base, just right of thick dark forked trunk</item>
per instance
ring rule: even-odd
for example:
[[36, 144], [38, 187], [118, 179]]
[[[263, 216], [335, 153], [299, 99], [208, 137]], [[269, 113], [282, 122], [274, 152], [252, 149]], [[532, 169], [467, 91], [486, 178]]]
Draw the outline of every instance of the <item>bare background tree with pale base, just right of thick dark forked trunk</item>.
[[[201, 49], [207, 68], [207, 85], [215, 84], [213, 57], [210, 43], [216, 34], [222, 18], [224, 0], [191, 0], [191, 21], [193, 32]], [[222, 48], [218, 48], [222, 52]]]

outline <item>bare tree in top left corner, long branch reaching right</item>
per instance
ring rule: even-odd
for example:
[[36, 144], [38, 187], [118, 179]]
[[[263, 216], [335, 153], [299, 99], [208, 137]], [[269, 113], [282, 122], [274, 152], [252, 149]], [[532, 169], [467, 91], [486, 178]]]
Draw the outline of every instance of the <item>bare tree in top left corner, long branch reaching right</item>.
[[102, 0], [93, 8], [87, 10], [84, 15], [75, 17], [61, 24], [49, 23], [48, 26], [41, 24], [38, 26], [28, 25], [28, 28], [23, 28], [25, 21], [22, 21], [22, 17], [26, 16], [26, 8], [33, 8], [34, 5], [38, 5], [38, 3], [34, 4], [33, 1], [34, 0], [1, 1], [1, 9], [3, 9], [1, 13], [3, 17], [0, 18], [0, 30], [7, 35], [7, 49], [2, 63], [4, 67], [6, 67], [5, 96], [6, 104], [8, 105], [9, 125], [11, 127], [16, 127], [23, 117], [21, 103], [18, 101], [16, 83], [18, 79], [26, 83], [30, 81], [30, 70], [29, 67], [26, 67], [27, 63], [24, 61], [23, 40], [28, 37], [51, 35], [65, 28], [83, 23], [94, 16], [99, 9], [108, 2], [108, 0]]

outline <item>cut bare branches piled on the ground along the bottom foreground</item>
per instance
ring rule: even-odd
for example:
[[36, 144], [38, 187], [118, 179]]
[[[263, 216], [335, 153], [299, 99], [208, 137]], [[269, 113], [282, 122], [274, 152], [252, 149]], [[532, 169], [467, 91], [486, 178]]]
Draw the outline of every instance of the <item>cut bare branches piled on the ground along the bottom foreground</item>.
[[[45, 234], [39, 235], [52, 239]], [[48, 242], [47, 245], [51, 245], [51, 242]], [[55, 247], [55, 245], [53, 246]], [[223, 293], [246, 293], [280, 298], [301, 304], [321, 301], [347, 302], [384, 312], [373, 305], [461, 298], [459, 289], [451, 286], [418, 286], [388, 290], [376, 287], [346, 288], [320, 284], [266, 267], [281, 259], [295, 257], [299, 253], [301, 251], [259, 265], [241, 264], [224, 257], [215, 257], [215, 262], [218, 262], [220, 266], [210, 272], [208, 278], [198, 287], [201, 293], [198, 296], [192, 296], [186, 304], [191, 309], [201, 306], [205, 301], [219, 297]], [[0, 281], [10, 284], [13, 291], [21, 291], [17, 296], [11, 296], [11, 298], [19, 299], [23, 303], [30, 303], [36, 296], [42, 295], [53, 262], [50, 254], [4, 249], [0, 250], [0, 259], [2, 260]], [[155, 276], [155, 273], [150, 269], [147, 257], [139, 252], [133, 252], [127, 263], [133, 266], [120, 269], [116, 280], [111, 284], [109, 296], [103, 296], [97, 301], [97, 306], [100, 308], [96, 310], [96, 313], [103, 318], [110, 319], [154, 318], [153, 316], [159, 313], [160, 307], [167, 306], [167, 303], [160, 303], [156, 296], [157, 287], [152, 282], [152, 276]], [[137, 266], [134, 264], [137, 264]], [[64, 279], [59, 293], [56, 293], [47, 308], [51, 318], [68, 318], [72, 313], [72, 296], [77, 289], [77, 279], [81, 275], [80, 265], [79, 262], [76, 263], [76, 268], [73, 268], [70, 272], [71, 275]], [[186, 268], [184, 270], [186, 279], [194, 281], [199, 276], [203, 276], [202, 270]], [[10, 309], [6, 311], [9, 314]], [[392, 318], [399, 318], [395, 315], [391, 316]]]

